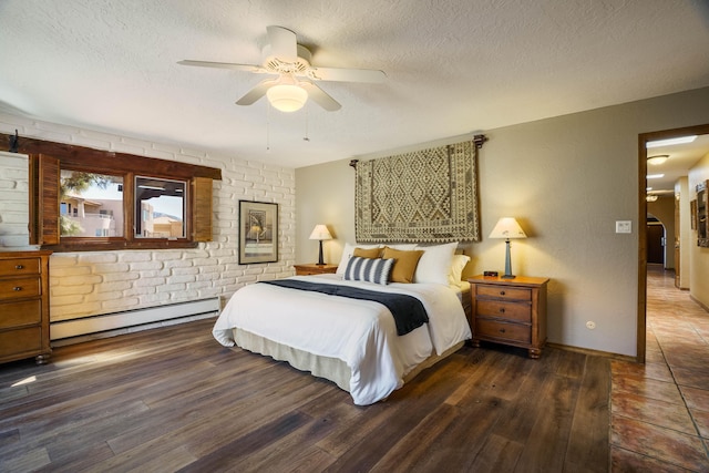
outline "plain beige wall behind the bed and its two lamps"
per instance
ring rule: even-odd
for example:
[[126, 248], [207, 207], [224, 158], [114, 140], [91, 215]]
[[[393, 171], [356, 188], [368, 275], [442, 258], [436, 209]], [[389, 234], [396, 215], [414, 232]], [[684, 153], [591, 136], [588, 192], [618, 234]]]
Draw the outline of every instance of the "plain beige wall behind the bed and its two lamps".
[[[701, 89], [485, 131], [483, 240], [466, 246], [474, 258], [471, 270], [503, 269], [504, 243], [486, 236], [497, 218], [517, 217], [530, 238], [513, 243], [513, 270], [551, 278], [549, 341], [636, 356], [638, 225], [645, 225], [638, 222], [638, 135], [707, 124], [708, 103], [709, 89]], [[316, 244], [307, 237], [316, 223], [330, 224], [337, 234], [326, 243], [328, 261], [339, 260], [345, 241], [354, 241], [354, 173], [348, 163], [296, 169], [296, 260], [315, 259]], [[616, 234], [616, 220], [631, 220], [633, 233]], [[709, 264], [703, 276], [709, 280]], [[588, 320], [595, 330], [586, 328]]]

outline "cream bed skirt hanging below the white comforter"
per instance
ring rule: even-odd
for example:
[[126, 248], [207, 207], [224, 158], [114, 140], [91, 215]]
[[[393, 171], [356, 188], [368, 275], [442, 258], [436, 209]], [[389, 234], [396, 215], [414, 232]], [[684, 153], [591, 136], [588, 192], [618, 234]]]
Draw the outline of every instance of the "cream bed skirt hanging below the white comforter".
[[[300, 371], [309, 371], [312, 376], [332, 381], [340, 389], [350, 392], [350, 378], [352, 372], [347, 363], [338, 358], [318, 357], [317, 354], [312, 354], [304, 350], [277, 343], [246, 330], [234, 329], [234, 340], [239, 348], [254, 353], [266, 354], [271, 357], [274, 360], [286, 361], [288, 364]], [[432, 367], [436, 362], [460, 350], [464, 343], [464, 341], [461, 341], [460, 343], [449, 348], [442, 354], [434, 353], [430, 356], [421, 364], [407, 373], [403, 377], [403, 382], [409, 382], [424, 369]]]

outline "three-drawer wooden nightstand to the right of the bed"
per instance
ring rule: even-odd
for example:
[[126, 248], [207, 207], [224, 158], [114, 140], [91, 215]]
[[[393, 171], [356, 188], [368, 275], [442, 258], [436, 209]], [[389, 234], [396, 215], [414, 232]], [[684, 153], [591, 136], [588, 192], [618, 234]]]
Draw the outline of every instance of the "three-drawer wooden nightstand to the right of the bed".
[[547, 278], [514, 279], [475, 276], [471, 284], [470, 328], [473, 346], [481, 340], [526, 348], [540, 358], [546, 342]]

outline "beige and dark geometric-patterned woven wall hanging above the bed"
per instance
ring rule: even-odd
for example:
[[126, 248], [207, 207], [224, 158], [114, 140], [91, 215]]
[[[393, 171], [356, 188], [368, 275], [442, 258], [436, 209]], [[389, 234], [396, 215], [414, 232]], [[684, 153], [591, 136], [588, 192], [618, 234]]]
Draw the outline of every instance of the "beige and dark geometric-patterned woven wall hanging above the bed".
[[354, 236], [369, 243], [479, 241], [473, 141], [357, 161]]

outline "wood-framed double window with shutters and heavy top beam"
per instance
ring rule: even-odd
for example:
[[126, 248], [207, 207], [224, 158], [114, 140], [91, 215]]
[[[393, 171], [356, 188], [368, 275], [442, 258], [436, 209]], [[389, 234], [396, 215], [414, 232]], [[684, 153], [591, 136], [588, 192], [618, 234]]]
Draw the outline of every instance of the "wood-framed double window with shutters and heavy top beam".
[[219, 169], [25, 138], [30, 238], [54, 251], [193, 248], [212, 240]]

